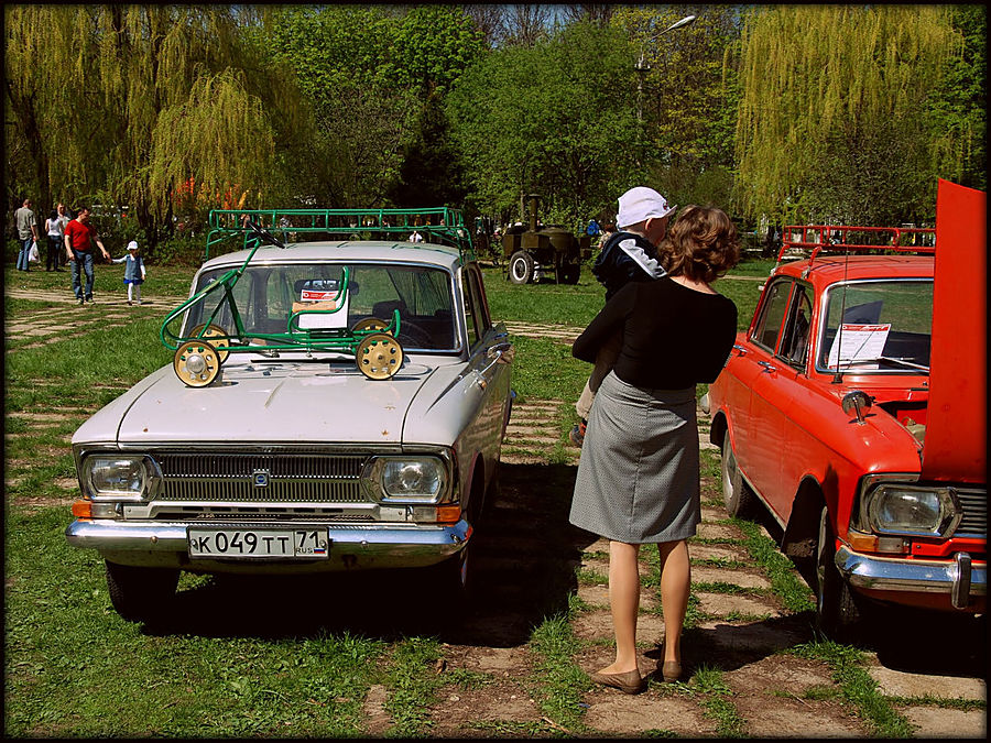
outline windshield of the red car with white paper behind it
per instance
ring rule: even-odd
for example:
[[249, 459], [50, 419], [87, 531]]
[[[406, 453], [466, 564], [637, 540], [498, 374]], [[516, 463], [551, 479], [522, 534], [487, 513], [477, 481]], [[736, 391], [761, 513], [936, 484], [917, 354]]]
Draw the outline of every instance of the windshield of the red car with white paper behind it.
[[826, 297], [821, 371], [929, 371], [933, 281], [838, 284]]

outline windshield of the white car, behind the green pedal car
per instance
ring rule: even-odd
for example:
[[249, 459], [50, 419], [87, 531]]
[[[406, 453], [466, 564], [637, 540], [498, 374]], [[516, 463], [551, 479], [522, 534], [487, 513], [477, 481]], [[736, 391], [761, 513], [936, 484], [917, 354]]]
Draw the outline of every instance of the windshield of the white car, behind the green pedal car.
[[[233, 285], [231, 303], [222, 289], [211, 292], [189, 308], [186, 328], [206, 323], [220, 305], [213, 323], [231, 336], [285, 334], [290, 317], [301, 310], [323, 310], [296, 317], [295, 328], [346, 328], [367, 318], [386, 323], [400, 313], [399, 341], [404, 349], [453, 351], [458, 349], [451, 312], [450, 274], [421, 265], [347, 264], [347, 293], [342, 263], [249, 265]], [[206, 288], [229, 269], [205, 272], [196, 292]], [[333, 313], [326, 310], [335, 310]], [[252, 342], [257, 342], [252, 340]]]

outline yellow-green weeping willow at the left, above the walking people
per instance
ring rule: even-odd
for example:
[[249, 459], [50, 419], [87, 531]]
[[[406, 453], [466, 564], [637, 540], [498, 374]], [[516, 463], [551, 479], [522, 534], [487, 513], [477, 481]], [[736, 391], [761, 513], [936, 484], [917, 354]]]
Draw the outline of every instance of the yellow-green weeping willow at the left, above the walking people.
[[237, 186], [255, 199], [286, 187], [288, 163], [273, 151], [300, 146], [303, 108], [279, 66], [258, 64], [241, 12], [8, 7], [6, 133], [23, 143], [9, 171], [42, 209], [128, 205], [152, 244], [190, 178], [204, 194]]

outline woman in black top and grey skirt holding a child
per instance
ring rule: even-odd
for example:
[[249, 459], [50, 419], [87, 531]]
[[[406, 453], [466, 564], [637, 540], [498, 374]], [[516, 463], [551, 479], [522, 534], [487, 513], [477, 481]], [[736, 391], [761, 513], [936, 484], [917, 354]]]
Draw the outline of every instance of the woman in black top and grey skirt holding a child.
[[695, 385], [716, 380], [737, 332], [736, 305], [710, 286], [740, 256], [726, 212], [685, 207], [660, 253], [668, 275], [620, 289], [571, 349], [595, 362], [610, 337], [623, 339], [592, 404], [570, 522], [610, 540], [616, 662], [591, 677], [627, 693], [645, 688], [635, 652], [641, 544], [656, 544], [661, 556], [662, 675], [682, 674], [686, 539], [701, 520]]

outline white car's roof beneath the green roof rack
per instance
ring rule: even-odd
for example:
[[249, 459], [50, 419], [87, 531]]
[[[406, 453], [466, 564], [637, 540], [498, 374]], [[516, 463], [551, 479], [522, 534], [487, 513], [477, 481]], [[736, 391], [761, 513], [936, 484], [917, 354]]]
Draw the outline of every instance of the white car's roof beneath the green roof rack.
[[[211, 258], [200, 271], [238, 267], [249, 250], [238, 250]], [[423, 263], [455, 270], [462, 261], [457, 248], [431, 242], [398, 242], [392, 240], [335, 240], [327, 242], [296, 242], [282, 248], [263, 245], [251, 259], [255, 263], [323, 263], [327, 261]]]

